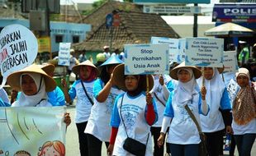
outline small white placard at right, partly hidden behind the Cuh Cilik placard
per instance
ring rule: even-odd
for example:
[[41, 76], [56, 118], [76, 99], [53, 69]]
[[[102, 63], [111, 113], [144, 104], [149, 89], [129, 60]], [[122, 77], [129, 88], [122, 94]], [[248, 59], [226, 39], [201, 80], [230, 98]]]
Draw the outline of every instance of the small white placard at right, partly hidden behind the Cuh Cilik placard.
[[223, 54], [224, 72], [231, 72], [238, 70], [238, 63], [235, 51], [226, 51]]

